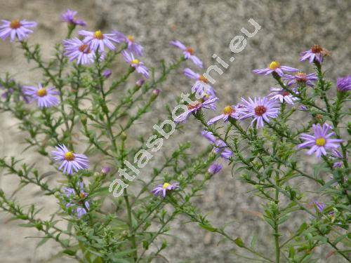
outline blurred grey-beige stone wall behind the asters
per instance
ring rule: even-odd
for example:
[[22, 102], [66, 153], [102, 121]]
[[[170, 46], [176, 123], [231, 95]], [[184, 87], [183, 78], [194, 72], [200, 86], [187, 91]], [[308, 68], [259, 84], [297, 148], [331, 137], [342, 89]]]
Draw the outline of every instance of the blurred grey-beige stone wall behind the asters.
[[[117, 29], [125, 34], [133, 34], [145, 46], [146, 64], [155, 67], [159, 60], [171, 62], [180, 54], [178, 50], [168, 47], [168, 42], [173, 39], [192, 46], [204, 60], [205, 68], [214, 64], [211, 58], [213, 53], [228, 62], [232, 55], [230, 40], [241, 34], [242, 27], [250, 31], [252, 27], [248, 20], [253, 18], [262, 28], [256, 36], [248, 39], [246, 48], [236, 55], [236, 60], [230, 63], [225, 73], [216, 78], [214, 87], [220, 97], [219, 108], [238, 102], [241, 96], [267, 94], [270, 86], [274, 86], [274, 81], [269, 77], [253, 75], [251, 71], [266, 67], [272, 60], [310, 72], [312, 67], [300, 63], [298, 54], [314, 43], [332, 52], [326, 63], [329, 78], [335, 80], [336, 76], [351, 72], [349, 0], [13, 0], [4, 1], [0, 18], [37, 20], [39, 28], [31, 36], [31, 41], [42, 43], [44, 53], [50, 55], [54, 43], [65, 36], [65, 25], [59, 23], [59, 13], [66, 8], [79, 11], [79, 17], [88, 21], [88, 29]], [[13, 44], [0, 42], [0, 73], [8, 71], [21, 81], [37, 81], [35, 72], [23, 70], [21, 66], [26, 65], [23, 62], [22, 54]], [[117, 66], [112, 71], [117, 71]], [[187, 66], [197, 70], [191, 63]], [[161, 112], [166, 102], [175, 105], [175, 98], [181, 91], [189, 90], [191, 85], [192, 82], [183, 76], [180, 69], [162, 86], [157, 109]], [[152, 114], [147, 116], [152, 120]], [[14, 121], [5, 114], [0, 116], [0, 123], [1, 155], [20, 154], [24, 147], [19, 144], [23, 135], [17, 132]], [[145, 133], [150, 133], [153, 124], [153, 121], [146, 121], [140, 127]], [[202, 147], [201, 144], [206, 142], [197, 136], [199, 126], [193, 121], [188, 125], [188, 129], [177, 140], [195, 141], [198, 147]], [[0, 178], [3, 188], [11, 189], [15, 183], [11, 179]], [[306, 187], [313, 188], [313, 185]], [[262, 212], [259, 210], [260, 199], [247, 194], [250, 189], [235, 180], [230, 169], [227, 169], [213, 178], [204, 195], [197, 199], [197, 205], [218, 225], [234, 220], [228, 229], [233, 236], [241, 236], [249, 242], [249, 237], [258, 235], [258, 243], [261, 248], [263, 246], [263, 251], [266, 248], [267, 254], [271, 254], [267, 247], [272, 237], [264, 236], [267, 228], [257, 217], [257, 212]], [[30, 197], [26, 199], [29, 203], [49, 204], [55, 210], [55, 201], [35, 196], [35, 191], [25, 193], [25, 198]], [[8, 222], [8, 218], [0, 214], [2, 259], [6, 259], [6, 262], [46, 262], [50, 255], [55, 254], [57, 247], [53, 243], [35, 250], [33, 240], [25, 237], [37, 234], [28, 229], [19, 229], [17, 223]], [[184, 224], [186, 221], [180, 217], [173, 225], [171, 234], [178, 238], [170, 238], [172, 245], [164, 253], [169, 262], [249, 262], [248, 259], [238, 258], [234, 254], [237, 250], [234, 251], [231, 244], [218, 244], [220, 237], [201, 231], [196, 225]], [[284, 230], [293, 232], [296, 226], [297, 222], [292, 222], [284, 225]], [[320, 262], [331, 261], [336, 262], [334, 257]]]

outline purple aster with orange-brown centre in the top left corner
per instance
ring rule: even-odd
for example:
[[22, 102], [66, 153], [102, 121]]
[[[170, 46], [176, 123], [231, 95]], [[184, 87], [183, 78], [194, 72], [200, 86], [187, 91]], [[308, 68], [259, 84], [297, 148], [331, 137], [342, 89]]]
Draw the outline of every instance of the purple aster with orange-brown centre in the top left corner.
[[7, 39], [10, 36], [10, 42], [15, 41], [17, 36], [19, 41], [27, 39], [29, 34], [33, 31], [29, 29], [30, 27], [37, 27], [37, 22], [31, 22], [27, 20], [1, 20], [2, 25], [0, 25], [0, 38], [2, 40]]

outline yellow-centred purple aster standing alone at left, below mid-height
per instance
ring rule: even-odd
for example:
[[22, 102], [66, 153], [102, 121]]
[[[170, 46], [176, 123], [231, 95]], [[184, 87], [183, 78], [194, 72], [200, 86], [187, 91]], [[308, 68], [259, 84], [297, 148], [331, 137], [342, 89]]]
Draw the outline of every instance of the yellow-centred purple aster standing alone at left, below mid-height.
[[84, 170], [89, 167], [89, 160], [86, 155], [74, 154], [64, 144], [59, 144], [55, 148], [57, 151], [51, 151], [51, 155], [56, 163], [61, 163], [58, 169], [61, 170], [63, 168], [63, 173], [72, 175], [73, 170], [78, 172], [78, 170]]

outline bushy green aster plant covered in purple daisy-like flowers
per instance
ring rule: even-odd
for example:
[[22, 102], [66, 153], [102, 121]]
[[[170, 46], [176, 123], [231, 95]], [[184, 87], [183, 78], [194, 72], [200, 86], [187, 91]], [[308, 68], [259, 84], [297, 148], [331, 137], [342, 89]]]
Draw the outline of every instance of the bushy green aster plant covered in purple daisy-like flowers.
[[[188, 224], [222, 238], [216, 248], [224, 242], [231, 246], [233, 262], [327, 257], [350, 262], [351, 81], [350, 76], [326, 79], [329, 51], [314, 45], [301, 53], [300, 62], [296, 54], [294, 67], [273, 61], [256, 69], [266, 76], [267, 88], [260, 86], [265, 95], [227, 96], [224, 103], [204, 75], [190, 69], [204, 67], [193, 48], [171, 41], [182, 51], [179, 58], [154, 68], [150, 59], [140, 58], [142, 41], [116, 30], [76, 32], [86, 25], [76, 15], [62, 14], [67, 36], [48, 61], [30, 39], [36, 22], [2, 20], [0, 26], [0, 38], [15, 42], [41, 73], [36, 82], [0, 76], [0, 111], [18, 121], [27, 144], [24, 158], [0, 157], [0, 173], [19, 179], [14, 192], [0, 189], [0, 208], [37, 229], [38, 245], [55, 241], [61, 247], [55, 258], [77, 262], [157, 262], [166, 258], [171, 223], [182, 215]], [[117, 63], [123, 60], [127, 63]], [[297, 69], [305, 60], [315, 72]], [[183, 112], [166, 103], [159, 111], [154, 104], [177, 70], [196, 83], [179, 86], [189, 92], [176, 101]], [[190, 129], [190, 123], [198, 124], [199, 149], [190, 142], [172, 143], [154, 158], [168, 137], [183, 136], [177, 131]], [[213, 177], [252, 187], [248, 195], [259, 207], [253, 214], [267, 224], [263, 231], [270, 249], [257, 245], [263, 240], [254, 229], [248, 230], [251, 238], [237, 236], [241, 224], [234, 213], [223, 223], [211, 222], [201, 211], [196, 201]], [[41, 217], [45, 207], [22, 205], [16, 194], [29, 187], [54, 198], [58, 209]], [[286, 224], [291, 220], [294, 229]]]

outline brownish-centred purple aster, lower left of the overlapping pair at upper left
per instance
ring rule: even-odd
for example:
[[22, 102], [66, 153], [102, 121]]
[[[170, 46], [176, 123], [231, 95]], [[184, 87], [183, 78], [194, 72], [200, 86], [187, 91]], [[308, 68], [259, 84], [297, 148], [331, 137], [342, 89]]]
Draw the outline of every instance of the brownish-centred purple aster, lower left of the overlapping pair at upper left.
[[[77, 39], [77, 37], [64, 40], [63, 46], [65, 47], [65, 55], [67, 55], [69, 61], [77, 60], [77, 65], [89, 65], [95, 60], [95, 53], [92, 52], [87, 44]], [[100, 59], [103, 59], [103, 53], [101, 53]]]

